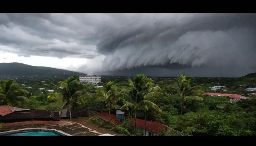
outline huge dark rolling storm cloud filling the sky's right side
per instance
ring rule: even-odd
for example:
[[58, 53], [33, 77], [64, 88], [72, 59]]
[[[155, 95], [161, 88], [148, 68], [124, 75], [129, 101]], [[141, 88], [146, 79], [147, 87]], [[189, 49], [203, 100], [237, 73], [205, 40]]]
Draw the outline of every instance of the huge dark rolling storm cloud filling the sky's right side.
[[[109, 54], [103, 69], [151, 76], [241, 76], [256, 71], [255, 14], [143, 18], [102, 37], [98, 50]], [[180, 69], [167, 66], [174, 63]]]

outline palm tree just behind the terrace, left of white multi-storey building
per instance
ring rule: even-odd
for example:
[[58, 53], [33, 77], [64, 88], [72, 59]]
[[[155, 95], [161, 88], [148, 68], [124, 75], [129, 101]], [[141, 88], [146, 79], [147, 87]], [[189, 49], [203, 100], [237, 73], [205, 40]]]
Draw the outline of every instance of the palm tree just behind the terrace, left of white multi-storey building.
[[86, 94], [89, 94], [86, 92], [83, 84], [79, 82], [79, 79], [76, 76], [70, 77], [66, 81], [60, 81], [59, 84], [61, 84], [62, 88], [59, 88], [59, 86], [57, 85], [51, 84], [52, 86], [54, 86], [56, 92], [53, 93], [51, 96], [48, 96], [48, 98], [63, 101], [63, 106], [69, 105], [69, 115], [71, 120], [71, 109], [78, 107], [79, 103], [77, 101], [80, 98], [85, 97]]

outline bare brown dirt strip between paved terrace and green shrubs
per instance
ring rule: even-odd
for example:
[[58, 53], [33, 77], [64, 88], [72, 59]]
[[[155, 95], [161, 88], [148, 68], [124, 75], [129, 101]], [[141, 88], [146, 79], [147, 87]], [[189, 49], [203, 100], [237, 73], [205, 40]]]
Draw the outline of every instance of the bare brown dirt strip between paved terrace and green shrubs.
[[77, 123], [80, 123], [82, 124], [83, 126], [85, 127], [88, 127], [92, 130], [95, 130], [97, 132], [100, 132], [102, 134], [112, 134], [112, 135], [119, 135], [117, 134], [116, 132], [112, 131], [112, 130], [109, 130], [109, 129], [105, 129], [103, 127], [98, 127], [96, 124], [90, 122], [88, 120], [88, 118], [77, 118], [77, 119], [72, 119], [71, 121], [74, 121], [74, 122], [77, 122]]

